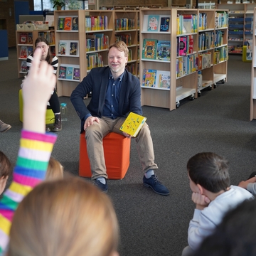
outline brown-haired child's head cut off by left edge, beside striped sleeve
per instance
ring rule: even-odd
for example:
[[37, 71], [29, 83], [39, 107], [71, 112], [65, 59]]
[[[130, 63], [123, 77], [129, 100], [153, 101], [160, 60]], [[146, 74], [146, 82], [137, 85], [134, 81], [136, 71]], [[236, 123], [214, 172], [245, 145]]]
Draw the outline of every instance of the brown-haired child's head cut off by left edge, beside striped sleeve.
[[0, 151], [0, 195], [4, 192], [4, 188], [6, 187], [6, 181], [11, 176], [12, 168], [11, 162], [7, 158], [7, 156]]

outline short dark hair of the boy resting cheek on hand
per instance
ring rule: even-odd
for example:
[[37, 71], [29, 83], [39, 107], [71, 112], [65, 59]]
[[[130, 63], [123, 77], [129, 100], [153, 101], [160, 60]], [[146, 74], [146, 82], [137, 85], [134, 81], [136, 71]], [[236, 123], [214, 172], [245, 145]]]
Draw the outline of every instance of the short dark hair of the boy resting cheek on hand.
[[210, 192], [226, 191], [230, 186], [228, 161], [218, 154], [198, 153], [188, 160], [187, 169], [191, 180]]

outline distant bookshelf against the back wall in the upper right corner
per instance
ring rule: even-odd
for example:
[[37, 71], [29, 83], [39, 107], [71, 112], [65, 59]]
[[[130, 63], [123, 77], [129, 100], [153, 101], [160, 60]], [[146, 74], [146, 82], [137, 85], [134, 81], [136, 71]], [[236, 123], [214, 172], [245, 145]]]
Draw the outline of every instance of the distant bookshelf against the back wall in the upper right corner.
[[246, 40], [252, 40], [253, 9], [256, 4], [217, 4], [218, 9], [228, 9], [228, 51], [242, 54]]

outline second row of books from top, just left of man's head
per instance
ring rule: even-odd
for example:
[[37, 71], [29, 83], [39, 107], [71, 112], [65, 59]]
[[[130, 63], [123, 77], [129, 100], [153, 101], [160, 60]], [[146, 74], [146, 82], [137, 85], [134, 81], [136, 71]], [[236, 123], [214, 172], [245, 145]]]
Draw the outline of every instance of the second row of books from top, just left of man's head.
[[109, 46], [109, 37], [104, 33], [87, 34], [86, 50], [105, 50]]

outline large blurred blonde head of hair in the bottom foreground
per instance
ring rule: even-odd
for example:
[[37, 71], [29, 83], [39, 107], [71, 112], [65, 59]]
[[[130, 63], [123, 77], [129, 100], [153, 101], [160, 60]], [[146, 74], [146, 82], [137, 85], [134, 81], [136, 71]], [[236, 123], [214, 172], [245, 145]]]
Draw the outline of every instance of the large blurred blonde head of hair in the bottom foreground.
[[9, 256], [109, 256], [119, 227], [110, 198], [78, 177], [45, 181], [19, 204]]

